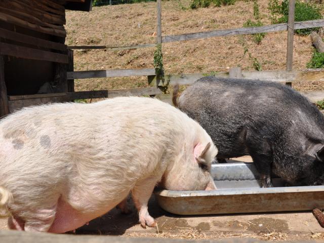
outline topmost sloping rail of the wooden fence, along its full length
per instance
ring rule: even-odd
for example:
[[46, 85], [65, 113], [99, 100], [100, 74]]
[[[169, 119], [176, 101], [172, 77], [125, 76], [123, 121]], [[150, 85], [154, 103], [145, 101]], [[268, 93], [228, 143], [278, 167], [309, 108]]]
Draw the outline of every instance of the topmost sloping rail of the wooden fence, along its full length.
[[[295, 22], [294, 25], [294, 29], [307, 29], [307, 28], [317, 28], [317, 27], [324, 27], [324, 19], [300, 21], [300, 22]], [[219, 30], [204, 31], [204, 32], [166, 35], [162, 37], [162, 43], [189, 41], [191, 39], [210, 38], [210, 37], [217, 37], [217, 36], [220, 37], [220, 36], [230, 36], [230, 35], [256, 34], [256, 33], [278, 32], [278, 31], [286, 31], [286, 30], [287, 30], [287, 23], [272, 24], [272, 25], [261, 26], [261, 27], [219, 29]], [[121, 46], [121, 47], [69, 46], [68, 49], [106, 49], [109, 51], [117, 51], [117, 50], [138, 49], [138, 48], [151, 48], [155, 46], [156, 44], [144, 44], [144, 45], [137, 45], [137, 46]]]

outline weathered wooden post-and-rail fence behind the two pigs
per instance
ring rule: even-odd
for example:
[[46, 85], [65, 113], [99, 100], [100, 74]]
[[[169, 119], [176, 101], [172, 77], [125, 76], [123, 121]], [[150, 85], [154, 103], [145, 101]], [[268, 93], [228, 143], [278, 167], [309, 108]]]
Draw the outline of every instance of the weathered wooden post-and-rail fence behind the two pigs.
[[[313, 27], [324, 27], [324, 19], [294, 22], [295, 1], [290, 0], [289, 6], [289, 21], [283, 24], [273, 24], [261, 27], [247, 27], [247, 28], [233, 28], [233, 29], [220, 29], [196, 33], [184, 33], [177, 35], [162, 36], [161, 25], [161, 0], [156, 1], [157, 4], [157, 37], [155, 44], [144, 44], [137, 46], [69, 46], [68, 54], [68, 89], [67, 93], [59, 94], [46, 94], [46, 95], [25, 95], [25, 96], [9, 96], [9, 109], [13, 111], [28, 104], [44, 103], [47, 101], [68, 101], [71, 99], [92, 99], [92, 98], [110, 98], [116, 96], [156, 96], [162, 100], [170, 102], [170, 96], [164, 95], [161, 91], [166, 85], [191, 85], [195, 80], [206, 75], [215, 75], [221, 77], [242, 77], [253, 78], [261, 80], [270, 80], [273, 82], [286, 83], [291, 85], [293, 82], [301, 80], [323, 80], [324, 69], [306, 69], [306, 70], [292, 70], [293, 63], [293, 43], [294, 43], [294, 30], [305, 29]], [[216, 72], [216, 73], [184, 73], [184, 74], [168, 74], [164, 78], [155, 75], [155, 69], [118, 69], [118, 70], [86, 70], [86, 71], [73, 71], [73, 49], [106, 49], [110, 51], [138, 49], [138, 48], [151, 48], [156, 44], [189, 41], [193, 39], [210, 38], [215, 36], [229, 36], [229, 35], [242, 35], [242, 34], [255, 34], [263, 32], [277, 32], [288, 31], [287, 42], [287, 68], [286, 70], [277, 71], [241, 71], [239, 68], [232, 68], [229, 72]], [[6, 35], [6, 32], [0, 31], [1, 35]], [[26, 42], [33, 41], [32, 39]], [[43, 45], [43, 43], [38, 43]], [[47, 43], [46, 43], [47, 45]], [[60, 48], [54, 46], [53, 48]], [[99, 90], [99, 91], [83, 91], [74, 92], [74, 79], [84, 78], [105, 78], [105, 77], [120, 77], [120, 76], [147, 76], [147, 88], [136, 89], [123, 89], [123, 90]], [[164, 82], [161, 80], [164, 79]], [[308, 92], [309, 93], [309, 92]], [[309, 95], [309, 94], [308, 94]], [[318, 94], [318, 97], [321, 97]], [[324, 97], [323, 97], [324, 98]]]

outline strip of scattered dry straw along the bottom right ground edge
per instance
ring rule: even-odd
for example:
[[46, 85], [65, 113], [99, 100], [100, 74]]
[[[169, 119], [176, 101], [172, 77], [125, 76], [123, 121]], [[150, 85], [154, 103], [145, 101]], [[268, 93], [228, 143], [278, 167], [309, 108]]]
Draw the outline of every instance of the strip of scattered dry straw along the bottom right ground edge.
[[138, 233], [132, 232], [125, 235], [126, 237], [156, 237], [172, 239], [224, 239], [224, 238], [254, 238], [267, 241], [286, 241], [286, 240], [306, 240], [306, 239], [324, 239], [322, 233], [287, 233], [287, 232], [199, 232], [196, 230], [182, 230], [172, 233]]

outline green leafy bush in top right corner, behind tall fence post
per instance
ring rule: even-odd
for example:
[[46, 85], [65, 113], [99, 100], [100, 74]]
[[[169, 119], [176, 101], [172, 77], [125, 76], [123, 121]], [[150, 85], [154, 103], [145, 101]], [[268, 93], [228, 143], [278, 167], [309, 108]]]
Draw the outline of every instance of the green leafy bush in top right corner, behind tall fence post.
[[[273, 24], [287, 23], [289, 13], [289, 0], [282, 1], [279, 5], [277, 0], [270, 0], [268, 4], [270, 20]], [[307, 21], [321, 19], [320, 9], [311, 3], [304, 3], [300, 0], [295, 4], [295, 21]], [[297, 29], [295, 32], [300, 35], [307, 35], [318, 28]]]

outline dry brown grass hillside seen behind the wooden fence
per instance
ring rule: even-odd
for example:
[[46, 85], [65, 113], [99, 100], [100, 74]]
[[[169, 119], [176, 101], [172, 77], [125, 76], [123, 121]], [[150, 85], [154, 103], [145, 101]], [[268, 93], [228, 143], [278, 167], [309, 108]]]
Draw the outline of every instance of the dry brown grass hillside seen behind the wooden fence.
[[[189, 0], [181, 0], [184, 6]], [[258, 1], [262, 22], [270, 24], [266, 0]], [[163, 35], [242, 27], [253, 19], [253, 1], [238, 1], [234, 6], [183, 11], [179, 2], [162, 3]], [[156, 3], [94, 7], [90, 13], [66, 13], [67, 45], [125, 46], [154, 43]], [[166, 73], [226, 71], [233, 66], [253, 70], [248, 55], [239, 44], [239, 36], [212, 37], [163, 45]], [[249, 51], [263, 70], [286, 67], [287, 33], [268, 33], [257, 45], [245, 35]], [[148, 68], [153, 66], [154, 48], [106, 51], [75, 51], [75, 70]], [[308, 36], [295, 35], [294, 69], [306, 68], [313, 52]], [[109, 82], [107, 82], [109, 80]], [[100, 90], [145, 87], [145, 77], [123, 77], [76, 81], [76, 90]], [[324, 83], [296, 84], [302, 90], [324, 90]]]

